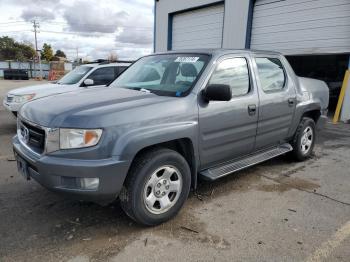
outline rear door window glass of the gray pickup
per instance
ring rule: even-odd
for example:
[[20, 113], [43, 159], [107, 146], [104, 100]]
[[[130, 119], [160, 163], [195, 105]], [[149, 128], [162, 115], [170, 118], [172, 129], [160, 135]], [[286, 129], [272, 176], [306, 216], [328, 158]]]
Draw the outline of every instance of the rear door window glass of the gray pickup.
[[277, 58], [256, 58], [261, 88], [265, 92], [279, 91], [284, 88], [286, 77], [282, 63]]

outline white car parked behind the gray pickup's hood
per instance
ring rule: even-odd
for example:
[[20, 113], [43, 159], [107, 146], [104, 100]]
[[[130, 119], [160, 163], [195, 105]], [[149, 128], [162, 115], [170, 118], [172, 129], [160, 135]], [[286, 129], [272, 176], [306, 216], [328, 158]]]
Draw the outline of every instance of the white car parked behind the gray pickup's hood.
[[66, 93], [81, 88], [101, 87], [113, 82], [131, 63], [86, 64], [76, 67], [57, 82], [21, 87], [8, 92], [3, 101], [6, 109], [17, 115], [19, 108], [26, 102]]

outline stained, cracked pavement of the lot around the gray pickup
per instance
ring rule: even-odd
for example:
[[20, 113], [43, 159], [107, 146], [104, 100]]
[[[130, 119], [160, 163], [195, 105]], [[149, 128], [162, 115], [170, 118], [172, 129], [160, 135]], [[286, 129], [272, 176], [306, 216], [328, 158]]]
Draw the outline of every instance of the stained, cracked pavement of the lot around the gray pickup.
[[[0, 81], [1, 100], [32, 83]], [[201, 182], [155, 228], [131, 222], [118, 203], [72, 201], [25, 181], [15, 130], [1, 106], [0, 261], [350, 261], [349, 125], [328, 124], [306, 162], [284, 156]]]

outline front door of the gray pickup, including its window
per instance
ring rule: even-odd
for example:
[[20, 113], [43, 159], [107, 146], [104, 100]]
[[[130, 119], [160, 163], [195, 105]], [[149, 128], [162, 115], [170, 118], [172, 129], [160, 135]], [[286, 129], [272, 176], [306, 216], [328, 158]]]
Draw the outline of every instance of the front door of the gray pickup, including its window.
[[242, 157], [254, 149], [258, 94], [248, 56], [224, 56], [216, 63], [209, 84], [231, 87], [230, 101], [199, 103], [199, 148], [203, 169]]

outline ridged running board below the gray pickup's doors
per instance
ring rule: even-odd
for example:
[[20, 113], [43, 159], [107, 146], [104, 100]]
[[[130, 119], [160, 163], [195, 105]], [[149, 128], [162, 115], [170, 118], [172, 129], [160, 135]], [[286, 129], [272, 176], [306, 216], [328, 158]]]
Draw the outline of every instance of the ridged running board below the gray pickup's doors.
[[240, 160], [236, 160], [233, 162], [226, 162], [223, 165], [206, 169], [200, 172], [200, 175], [206, 180], [213, 181], [223, 176], [226, 176], [228, 174], [242, 170], [244, 168], [264, 162], [276, 156], [283, 155], [292, 150], [293, 150], [293, 147], [290, 144], [285, 143], [285, 144], [279, 145], [278, 147], [269, 148], [268, 150], [260, 151], [253, 155], [249, 155], [248, 157], [245, 157]]

